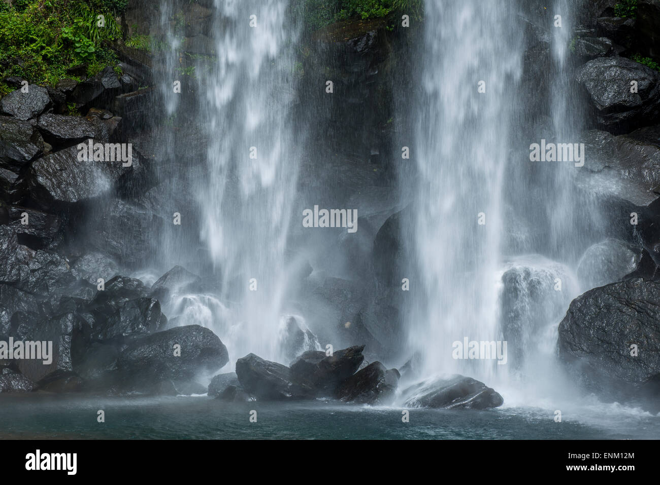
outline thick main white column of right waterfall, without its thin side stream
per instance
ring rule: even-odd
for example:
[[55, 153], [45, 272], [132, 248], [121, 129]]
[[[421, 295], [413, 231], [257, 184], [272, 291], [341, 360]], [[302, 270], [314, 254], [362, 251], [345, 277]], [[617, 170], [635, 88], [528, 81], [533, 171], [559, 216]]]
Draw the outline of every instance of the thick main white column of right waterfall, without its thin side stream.
[[459, 372], [488, 382], [496, 372], [492, 361], [453, 359], [452, 343], [501, 340], [500, 192], [523, 48], [512, 8], [504, 0], [426, 2], [411, 156], [419, 173], [413, 244], [426, 304], [413, 308], [409, 323], [426, 376]]

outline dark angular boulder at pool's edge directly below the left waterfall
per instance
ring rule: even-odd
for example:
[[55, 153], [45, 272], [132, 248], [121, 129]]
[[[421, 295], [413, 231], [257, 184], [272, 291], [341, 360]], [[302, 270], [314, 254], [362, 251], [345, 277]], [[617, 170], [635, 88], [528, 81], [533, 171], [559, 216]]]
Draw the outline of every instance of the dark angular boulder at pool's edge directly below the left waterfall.
[[236, 375], [243, 388], [259, 399], [313, 399], [314, 389], [296, 384], [287, 366], [264, 360], [254, 354], [236, 361]]

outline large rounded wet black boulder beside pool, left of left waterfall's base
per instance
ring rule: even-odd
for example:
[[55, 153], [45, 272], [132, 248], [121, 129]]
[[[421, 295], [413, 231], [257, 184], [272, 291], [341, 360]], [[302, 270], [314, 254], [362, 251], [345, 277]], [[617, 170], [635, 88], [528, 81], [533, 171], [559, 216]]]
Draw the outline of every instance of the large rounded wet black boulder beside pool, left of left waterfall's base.
[[[176, 355], [180, 346], [180, 355]], [[134, 384], [164, 380], [191, 381], [228, 362], [227, 349], [217, 335], [199, 325], [172, 328], [139, 337], [121, 352], [117, 369]]]

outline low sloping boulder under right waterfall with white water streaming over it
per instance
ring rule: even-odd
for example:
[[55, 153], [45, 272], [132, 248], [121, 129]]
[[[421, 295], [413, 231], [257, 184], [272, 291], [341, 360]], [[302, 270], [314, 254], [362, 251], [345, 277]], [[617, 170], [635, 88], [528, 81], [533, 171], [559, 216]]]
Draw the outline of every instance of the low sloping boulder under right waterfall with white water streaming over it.
[[459, 375], [414, 384], [403, 395], [408, 396], [407, 407], [488, 409], [504, 404], [502, 396], [491, 387]]

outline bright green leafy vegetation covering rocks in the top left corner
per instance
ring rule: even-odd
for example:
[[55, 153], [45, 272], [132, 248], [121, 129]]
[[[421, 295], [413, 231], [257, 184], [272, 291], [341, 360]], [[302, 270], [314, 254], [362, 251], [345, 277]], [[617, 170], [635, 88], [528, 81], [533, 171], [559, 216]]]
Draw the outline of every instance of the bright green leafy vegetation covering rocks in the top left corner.
[[[94, 75], [117, 58], [106, 41], [121, 37], [115, 20], [127, 0], [0, 0], [0, 78], [55, 84], [71, 67]], [[102, 15], [103, 17], [99, 17]], [[0, 84], [0, 92], [11, 90]]]

